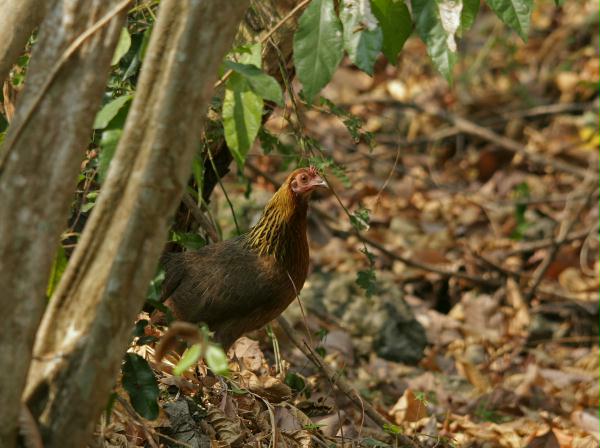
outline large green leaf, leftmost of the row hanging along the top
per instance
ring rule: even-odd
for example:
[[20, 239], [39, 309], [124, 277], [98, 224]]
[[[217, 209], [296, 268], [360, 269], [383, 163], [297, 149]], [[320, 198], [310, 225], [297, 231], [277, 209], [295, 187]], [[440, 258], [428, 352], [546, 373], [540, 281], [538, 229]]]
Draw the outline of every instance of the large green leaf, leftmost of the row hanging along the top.
[[308, 102], [329, 82], [343, 56], [342, 24], [333, 0], [312, 0], [294, 34], [294, 65]]

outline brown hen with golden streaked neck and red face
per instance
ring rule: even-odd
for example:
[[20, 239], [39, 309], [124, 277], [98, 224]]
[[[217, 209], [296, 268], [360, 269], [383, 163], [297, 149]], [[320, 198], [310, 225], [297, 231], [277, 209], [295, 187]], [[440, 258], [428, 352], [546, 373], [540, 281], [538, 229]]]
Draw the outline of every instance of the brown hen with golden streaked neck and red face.
[[326, 186], [315, 168], [297, 169], [248, 232], [199, 251], [165, 254], [162, 298], [175, 318], [207, 324], [227, 349], [281, 314], [308, 273], [308, 200]]

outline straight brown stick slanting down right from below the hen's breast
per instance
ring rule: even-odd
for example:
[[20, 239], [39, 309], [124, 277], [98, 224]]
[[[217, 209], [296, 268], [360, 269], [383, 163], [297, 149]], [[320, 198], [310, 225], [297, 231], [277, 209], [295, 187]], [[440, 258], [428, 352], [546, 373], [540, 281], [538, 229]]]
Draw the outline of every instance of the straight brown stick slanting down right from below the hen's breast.
[[[316, 353], [307, 343], [303, 341], [299, 336], [296, 330], [292, 328], [292, 326], [288, 323], [288, 321], [283, 317], [279, 316], [277, 318], [277, 322], [279, 326], [283, 330], [283, 332], [287, 335], [287, 337], [292, 341], [292, 343], [306, 356], [321, 372], [334, 384], [344, 395], [346, 395], [354, 405], [363, 410], [365, 414], [367, 414], [371, 420], [373, 420], [381, 429], [383, 429], [387, 425], [391, 425], [392, 423], [386, 419], [383, 415], [381, 415], [368, 401], [364, 400], [358, 391], [352, 387], [350, 384], [346, 382], [342, 375], [337, 374], [333, 371], [331, 367], [318, 353]], [[409, 447], [416, 447], [417, 445], [407, 436], [397, 434], [396, 437], [398, 441]]]

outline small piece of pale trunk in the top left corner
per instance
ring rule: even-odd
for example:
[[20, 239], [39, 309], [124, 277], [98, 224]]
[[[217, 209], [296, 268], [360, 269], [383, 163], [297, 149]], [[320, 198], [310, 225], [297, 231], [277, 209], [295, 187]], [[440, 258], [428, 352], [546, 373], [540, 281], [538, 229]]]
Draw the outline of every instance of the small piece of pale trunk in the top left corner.
[[47, 8], [46, 0], [0, 0], [0, 85]]

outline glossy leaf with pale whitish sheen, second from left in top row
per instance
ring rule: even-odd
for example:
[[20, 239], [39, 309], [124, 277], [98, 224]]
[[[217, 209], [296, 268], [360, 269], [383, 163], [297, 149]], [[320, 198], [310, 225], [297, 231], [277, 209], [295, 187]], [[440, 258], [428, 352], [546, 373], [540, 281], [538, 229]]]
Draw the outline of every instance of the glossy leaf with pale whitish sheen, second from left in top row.
[[357, 0], [342, 0], [340, 19], [344, 29], [344, 49], [354, 65], [372, 75], [375, 59], [381, 51], [383, 33], [370, 10], [359, 5]]

